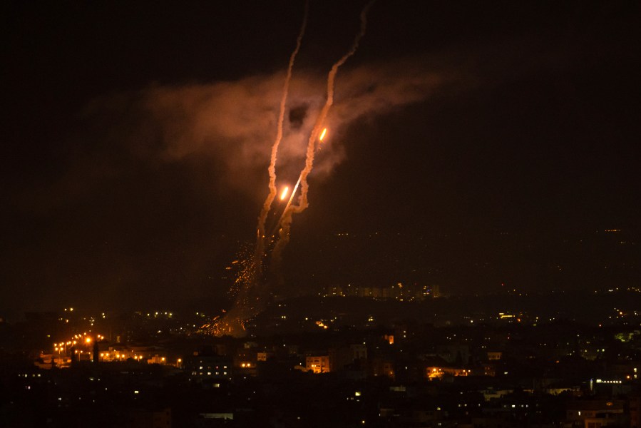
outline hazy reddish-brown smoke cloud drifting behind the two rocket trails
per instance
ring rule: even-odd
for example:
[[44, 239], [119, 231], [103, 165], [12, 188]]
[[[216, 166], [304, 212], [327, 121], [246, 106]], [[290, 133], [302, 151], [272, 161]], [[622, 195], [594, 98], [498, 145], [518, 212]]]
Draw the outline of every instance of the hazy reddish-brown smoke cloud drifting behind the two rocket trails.
[[[416, 66], [378, 64], [347, 68], [337, 82], [337, 96], [326, 124], [332, 138], [324, 143], [316, 173], [324, 175], [344, 160], [334, 138], [362, 116], [376, 116], [421, 101], [443, 83], [438, 73]], [[127, 151], [155, 163], [210, 158], [220, 165], [220, 188], [265, 196], [270, 150], [282, 97], [282, 73], [183, 86], [153, 85], [138, 93], [93, 101], [84, 111], [91, 129], [111, 150]], [[309, 71], [294, 74], [278, 155], [279, 178], [295, 180], [304, 165], [307, 139], [324, 104], [324, 76]], [[301, 114], [300, 106], [306, 106]], [[101, 156], [101, 158], [104, 158]], [[101, 161], [102, 163], [103, 161]], [[261, 175], [263, 175], [261, 177]]]

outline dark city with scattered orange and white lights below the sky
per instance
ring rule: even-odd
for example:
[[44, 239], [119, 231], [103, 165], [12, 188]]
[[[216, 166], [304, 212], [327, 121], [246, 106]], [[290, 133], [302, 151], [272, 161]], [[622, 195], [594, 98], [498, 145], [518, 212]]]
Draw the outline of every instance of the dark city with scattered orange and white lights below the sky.
[[3, 320], [0, 424], [641, 426], [637, 290], [370, 292], [275, 301], [240, 338], [205, 312]]

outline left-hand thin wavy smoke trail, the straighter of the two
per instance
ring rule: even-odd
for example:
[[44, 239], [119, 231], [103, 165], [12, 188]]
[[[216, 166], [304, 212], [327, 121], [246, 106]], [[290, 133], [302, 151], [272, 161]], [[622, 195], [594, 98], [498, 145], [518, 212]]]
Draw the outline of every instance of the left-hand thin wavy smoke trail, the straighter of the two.
[[274, 145], [272, 146], [272, 156], [270, 158], [270, 166], [268, 168], [268, 172], [270, 174], [270, 184], [269, 184], [270, 193], [267, 195], [267, 198], [265, 198], [265, 203], [263, 203], [262, 210], [260, 211], [260, 215], [258, 216], [258, 227], [257, 227], [258, 237], [257, 237], [257, 245], [256, 245], [257, 257], [262, 257], [262, 253], [264, 252], [265, 220], [267, 219], [267, 213], [270, 212], [270, 208], [272, 207], [272, 202], [274, 201], [274, 198], [276, 197], [276, 193], [277, 193], [276, 160], [277, 160], [277, 154], [278, 154], [278, 146], [280, 146], [280, 141], [282, 140], [282, 123], [284, 121], [285, 104], [287, 103], [287, 95], [289, 93], [289, 82], [292, 80], [292, 69], [294, 68], [294, 61], [296, 59], [298, 51], [300, 50], [302, 38], [305, 34], [305, 28], [307, 27], [308, 14], [309, 14], [309, 1], [305, 1], [303, 21], [300, 26], [298, 37], [296, 39], [296, 48], [294, 49], [294, 51], [292, 51], [292, 55], [289, 56], [289, 64], [287, 66], [287, 76], [285, 77], [285, 82], [282, 90], [282, 98], [280, 100], [280, 111], [278, 114], [276, 140], [274, 141]]

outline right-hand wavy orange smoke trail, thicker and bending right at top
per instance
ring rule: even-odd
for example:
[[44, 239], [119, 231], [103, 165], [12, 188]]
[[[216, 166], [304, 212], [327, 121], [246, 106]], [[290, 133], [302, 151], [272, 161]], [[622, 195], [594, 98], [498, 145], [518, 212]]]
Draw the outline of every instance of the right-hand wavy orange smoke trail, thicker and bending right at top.
[[[340, 58], [338, 61], [336, 61], [336, 63], [334, 63], [332, 68], [329, 70], [329, 73], [327, 74], [327, 100], [325, 101], [325, 105], [323, 106], [323, 108], [321, 109], [318, 115], [316, 123], [314, 123], [314, 128], [312, 128], [312, 133], [309, 134], [309, 140], [307, 141], [307, 154], [305, 158], [305, 167], [300, 173], [298, 182], [296, 183], [296, 186], [292, 191], [292, 195], [289, 197], [287, 207], [285, 208], [280, 220], [279, 240], [276, 243], [272, 253], [272, 270], [273, 272], [276, 272], [277, 275], [280, 272], [280, 264], [282, 263], [282, 250], [284, 250], [284, 248], [289, 243], [289, 232], [292, 226], [292, 215], [297, 213], [302, 213], [309, 206], [309, 202], [307, 201], [307, 191], [309, 190], [309, 184], [307, 183], [307, 175], [309, 175], [309, 173], [312, 172], [312, 168], [314, 168], [314, 153], [316, 152], [316, 140], [322, 129], [325, 118], [327, 118], [327, 113], [329, 113], [329, 108], [331, 108], [332, 104], [334, 103], [334, 81], [336, 79], [336, 74], [338, 72], [339, 67], [342, 66], [345, 63], [345, 61], [349, 59], [350, 56], [354, 55], [354, 53], [358, 49], [359, 43], [363, 38], [363, 36], [365, 35], [365, 30], [367, 27], [367, 12], [369, 11], [369, 8], [373, 3], [374, 3], [374, 0], [369, 1], [369, 3], [366, 4], [363, 10], [361, 11], [361, 15], [360, 15], [361, 29], [357, 34], [357, 36], [354, 38], [354, 43], [352, 43], [352, 47], [349, 49], [349, 51], [347, 51], [347, 54], [344, 54], [342, 58]], [[290, 206], [294, 198], [294, 193], [296, 193], [299, 183], [301, 187], [299, 203], [296, 206]], [[282, 278], [280, 279], [280, 282], [282, 282]]]

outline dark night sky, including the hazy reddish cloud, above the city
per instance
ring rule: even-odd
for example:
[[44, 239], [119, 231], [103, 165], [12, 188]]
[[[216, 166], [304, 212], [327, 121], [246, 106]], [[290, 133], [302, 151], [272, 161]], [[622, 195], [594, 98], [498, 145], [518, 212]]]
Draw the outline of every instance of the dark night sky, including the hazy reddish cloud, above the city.
[[[0, 315], [224, 297], [267, 194], [302, 1], [95, 3], [1, 6]], [[279, 185], [363, 5], [311, 1]], [[640, 29], [636, 2], [377, 1], [292, 245], [638, 232]]]

